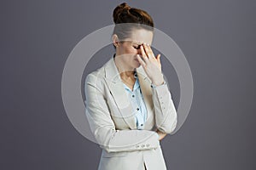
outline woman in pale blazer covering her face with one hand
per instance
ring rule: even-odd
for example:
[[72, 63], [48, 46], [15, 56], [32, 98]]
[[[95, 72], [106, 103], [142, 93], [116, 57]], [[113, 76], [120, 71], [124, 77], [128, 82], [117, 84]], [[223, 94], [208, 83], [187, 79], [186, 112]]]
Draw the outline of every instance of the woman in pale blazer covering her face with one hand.
[[121, 3], [113, 21], [116, 53], [85, 80], [86, 116], [102, 148], [98, 169], [164, 170], [160, 140], [175, 129], [177, 113], [160, 54], [154, 56], [149, 45], [153, 20], [142, 9]]

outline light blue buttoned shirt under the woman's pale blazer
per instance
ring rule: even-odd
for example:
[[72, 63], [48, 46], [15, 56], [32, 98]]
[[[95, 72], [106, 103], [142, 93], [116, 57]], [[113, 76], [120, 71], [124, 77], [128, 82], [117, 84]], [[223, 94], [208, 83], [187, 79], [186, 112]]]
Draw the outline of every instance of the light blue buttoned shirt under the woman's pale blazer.
[[140, 88], [140, 84], [137, 78], [137, 72], [135, 72], [134, 77], [136, 78], [136, 82], [133, 86], [133, 91], [128, 88], [125, 83], [125, 92], [128, 95], [128, 99], [131, 101], [131, 106], [133, 108], [133, 113], [135, 115], [135, 121], [137, 122], [137, 129], [143, 129], [144, 123], [146, 122], [148, 112], [146, 105], [143, 100], [142, 90]]

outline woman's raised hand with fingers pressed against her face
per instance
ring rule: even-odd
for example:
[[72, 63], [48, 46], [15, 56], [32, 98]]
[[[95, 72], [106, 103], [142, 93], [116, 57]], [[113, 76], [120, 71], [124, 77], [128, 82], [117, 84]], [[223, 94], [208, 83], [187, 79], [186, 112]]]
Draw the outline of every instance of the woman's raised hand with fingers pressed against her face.
[[151, 82], [155, 86], [159, 86], [164, 83], [164, 77], [161, 71], [161, 64], [160, 64], [160, 54], [156, 57], [149, 45], [143, 43], [140, 46], [143, 59], [137, 55], [137, 59], [141, 65], [143, 65], [143, 69], [150, 78]]

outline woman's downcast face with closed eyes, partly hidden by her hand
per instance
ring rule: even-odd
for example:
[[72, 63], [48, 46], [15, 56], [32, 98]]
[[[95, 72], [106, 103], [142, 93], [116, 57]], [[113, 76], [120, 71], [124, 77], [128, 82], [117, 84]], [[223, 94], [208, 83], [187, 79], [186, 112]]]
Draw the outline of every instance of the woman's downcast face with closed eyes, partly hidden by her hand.
[[130, 38], [125, 38], [124, 42], [119, 42], [116, 47], [116, 57], [122, 61], [125, 69], [133, 70], [140, 66], [137, 54], [141, 54], [140, 45], [145, 42], [151, 45], [153, 41], [153, 31], [136, 29], [131, 32]]

